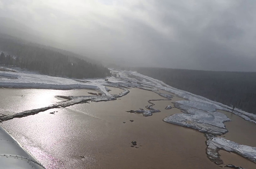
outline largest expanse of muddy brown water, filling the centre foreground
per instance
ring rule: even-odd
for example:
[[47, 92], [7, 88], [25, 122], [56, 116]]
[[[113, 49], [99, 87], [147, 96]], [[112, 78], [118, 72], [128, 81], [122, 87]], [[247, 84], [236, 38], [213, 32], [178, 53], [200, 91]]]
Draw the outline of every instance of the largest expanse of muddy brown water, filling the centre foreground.
[[[145, 108], [149, 99], [163, 97], [130, 89], [115, 101], [47, 110], [1, 126], [47, 169], [219, 169], [206, 156], [202, 133], [162, 121], [181, 113], [176, 108], [164, 109], [181, 98], [153, 101], [162, 112], [151, 117], [126, 112]], [[55, 114], [49, 113], [52, 111]], [[138, 148], [131, 147], [131, 141], [136, 141]]]

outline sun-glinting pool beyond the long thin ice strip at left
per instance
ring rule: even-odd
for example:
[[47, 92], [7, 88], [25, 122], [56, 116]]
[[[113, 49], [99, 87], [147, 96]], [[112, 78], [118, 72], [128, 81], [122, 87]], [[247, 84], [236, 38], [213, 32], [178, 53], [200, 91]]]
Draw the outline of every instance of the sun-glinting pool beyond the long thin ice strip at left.
[[89, 95], [92, 90], [0, 89], [0, 113], [13, 114], [63, 101], [55, 97]]

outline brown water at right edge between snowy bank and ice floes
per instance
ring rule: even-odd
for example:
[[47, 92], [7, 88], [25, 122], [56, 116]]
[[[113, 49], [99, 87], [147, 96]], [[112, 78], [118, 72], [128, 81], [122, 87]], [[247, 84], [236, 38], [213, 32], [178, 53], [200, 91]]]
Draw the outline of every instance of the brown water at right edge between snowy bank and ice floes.
[[225, 122], [226, 128], [229, 130], [228, 133], [222, 135], [227, 140], [233, 142], [256, 147], [256, 124], [244, 120], [235, 114], [224, 110], [217, 110], [227, 115], [232, 121]]

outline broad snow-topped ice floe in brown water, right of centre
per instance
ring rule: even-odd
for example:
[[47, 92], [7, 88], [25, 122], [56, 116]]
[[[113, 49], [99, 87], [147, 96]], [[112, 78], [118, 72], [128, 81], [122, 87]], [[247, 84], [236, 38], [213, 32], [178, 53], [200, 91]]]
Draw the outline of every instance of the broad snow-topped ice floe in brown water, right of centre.
[[215, 106], [189, 100], [181, 100], [174, 106], [183, 110], [182, 114], [174, 114], [163, 120], [168, 123], [181, 125], [203, 133], [216, 135], [228, 132], [224, 122], [231, 121], [225, 114], [217, 112]]

